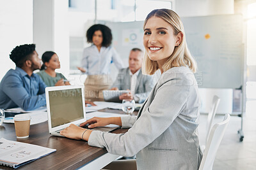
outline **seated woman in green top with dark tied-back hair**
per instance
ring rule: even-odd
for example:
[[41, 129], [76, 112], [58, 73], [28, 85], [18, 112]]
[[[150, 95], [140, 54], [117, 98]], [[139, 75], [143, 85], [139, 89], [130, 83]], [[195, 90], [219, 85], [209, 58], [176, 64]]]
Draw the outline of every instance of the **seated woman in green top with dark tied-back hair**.
[[55, 69], [60, 69], [60, 60], [56, 53], [45, 52], [42, 55], [42, 61], [44, 64], [40, 69], [41, 71], [37, 74], [42, 78], [45, 85], [48, 87], [70, 85], [63, 74], [55, 72]]

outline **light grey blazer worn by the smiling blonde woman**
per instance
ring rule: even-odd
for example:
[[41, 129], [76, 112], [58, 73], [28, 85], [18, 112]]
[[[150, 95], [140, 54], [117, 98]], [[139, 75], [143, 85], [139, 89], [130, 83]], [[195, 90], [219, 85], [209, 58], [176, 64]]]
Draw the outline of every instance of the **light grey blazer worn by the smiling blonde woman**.
[[131, 127], [128, 132], [93, 131], [88, 144], [116, 155], [136, 154], [138, 169], [198, 169], [199, 108], [194, 74], [173, 67], [161, 75], [137, 118], [121, 117], [122, 127]]

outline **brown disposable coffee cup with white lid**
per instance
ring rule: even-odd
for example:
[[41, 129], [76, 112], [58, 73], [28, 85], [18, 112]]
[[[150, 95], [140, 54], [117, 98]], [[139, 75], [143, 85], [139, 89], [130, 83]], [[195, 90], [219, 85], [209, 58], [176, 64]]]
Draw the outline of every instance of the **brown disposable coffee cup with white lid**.
[[31, 117], [28, 113], [15, 115], [14, 125], [17, 138], [28, 138]]

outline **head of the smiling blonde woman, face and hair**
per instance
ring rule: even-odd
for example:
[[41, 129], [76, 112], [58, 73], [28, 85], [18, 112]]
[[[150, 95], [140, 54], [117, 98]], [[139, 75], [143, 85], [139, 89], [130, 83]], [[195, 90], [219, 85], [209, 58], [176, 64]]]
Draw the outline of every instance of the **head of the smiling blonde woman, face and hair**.
[[[146, 74], [154, 74], [157, 69], [161, 69], [163, 73], [172, 67], [179, 66], [188, 66], [194, 73], [196, 71], [196, 62], [188, 50], [180, 18], [174, 17], [173, 20], [168, 18], [174, 13], [172, 10], [170, 13], [151, 12], [144, 22], [143, 44], [147, 57], [144, 59], [143, 67]], [[164, 58], [159, 58], [159, 55]]]

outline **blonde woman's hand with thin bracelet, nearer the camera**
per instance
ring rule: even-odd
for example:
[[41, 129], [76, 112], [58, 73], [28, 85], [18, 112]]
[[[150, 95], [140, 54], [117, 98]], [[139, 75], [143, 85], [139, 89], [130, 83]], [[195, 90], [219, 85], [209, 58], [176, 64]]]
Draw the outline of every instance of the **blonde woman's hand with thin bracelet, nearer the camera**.
[[89, 136], [91, 134], [90, 129], [84, 129], [83, 127], [79, 127], [74, 124], [70, 124], [68, 127], [60, 131], [60, 134], [71, 139], [84, 139], [88, 141]]

